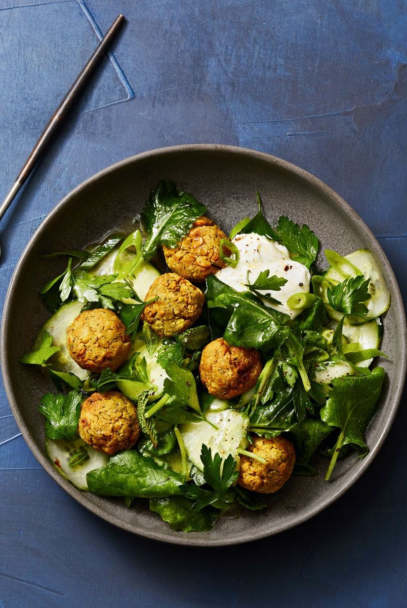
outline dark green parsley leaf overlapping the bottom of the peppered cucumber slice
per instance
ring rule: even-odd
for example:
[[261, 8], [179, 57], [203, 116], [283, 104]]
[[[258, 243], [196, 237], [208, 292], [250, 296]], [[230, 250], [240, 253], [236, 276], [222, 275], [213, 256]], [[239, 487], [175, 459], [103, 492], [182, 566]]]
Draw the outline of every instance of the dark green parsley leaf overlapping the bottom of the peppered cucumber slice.
[[202, 445], [200, 460], [203, 464], [203, 478], [212, 489], [185, 484], [181, 488], [184, 496], [194, 500], [191, 507], [194, 511], [199, 511], [208, 505], [220, 510], [227, 509], [230, 503], [234, 502], [234, 491], [229, 492], [229, 489], [239, 477], [236, 461], [231, 454], [225, 460], [222, 460], [217, 452], [212, 457], [211, 448], [205, 444]]

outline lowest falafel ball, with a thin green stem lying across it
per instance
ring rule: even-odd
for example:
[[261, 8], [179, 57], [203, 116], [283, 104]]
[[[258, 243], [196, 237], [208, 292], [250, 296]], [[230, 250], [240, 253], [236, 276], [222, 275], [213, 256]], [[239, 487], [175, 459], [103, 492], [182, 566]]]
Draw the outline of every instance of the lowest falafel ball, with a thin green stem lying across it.
[[255, 458], [241, 456], [238, 484], [252, 492], [272, 494], [284, 486], [293, 472], [294, 446], [281, 436], [273, 439], [253, 437], [253, 441], [247, 450], [261, 456], [266, 462], [264, 464]]

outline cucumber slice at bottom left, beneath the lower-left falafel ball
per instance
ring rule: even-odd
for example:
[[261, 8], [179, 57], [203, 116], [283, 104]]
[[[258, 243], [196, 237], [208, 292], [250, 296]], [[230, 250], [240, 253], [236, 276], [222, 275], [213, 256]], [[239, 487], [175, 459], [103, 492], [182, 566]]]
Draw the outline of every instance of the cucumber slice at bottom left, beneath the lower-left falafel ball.
[[[87, 490], [86, 474], [106, 465], [109, 460], [108, 454], [95, 450], [81, 439], [65, 441], [47, 438], [45, 451], [56, 470], [80, 490]], [[70, 459], [78, 452], [86, 452], [86, 459], [78, 465], [69, 466]]]

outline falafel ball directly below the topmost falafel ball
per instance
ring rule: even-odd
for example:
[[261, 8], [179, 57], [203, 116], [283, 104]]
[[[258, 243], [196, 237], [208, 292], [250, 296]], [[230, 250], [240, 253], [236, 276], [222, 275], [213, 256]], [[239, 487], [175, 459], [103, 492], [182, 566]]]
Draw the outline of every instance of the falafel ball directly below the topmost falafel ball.
[[142, 320], [161, 337], [171, 337], [190, 328], [202, 312], [205, 297], [195, 285], [175, 272], [160, 275], [150, 286]]

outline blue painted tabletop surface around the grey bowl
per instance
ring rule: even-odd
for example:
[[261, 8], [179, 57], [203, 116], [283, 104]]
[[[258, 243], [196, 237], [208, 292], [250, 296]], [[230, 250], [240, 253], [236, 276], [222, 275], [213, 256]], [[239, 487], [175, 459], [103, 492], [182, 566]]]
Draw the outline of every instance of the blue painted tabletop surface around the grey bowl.
[[[219, 142], [326, 181], [380, 238], [407, 295], [406, 12], [393, 0], [0, 0], [0, 198], [115, 15], [128, 24], [0, 226], [0, 305], [46, 214], [150, 148]], [[171, 547], [70, 499], [0, 386], [0, 607], [407, 604], [406, 399], [380, 454], [319, 516], [241, 547]]]

